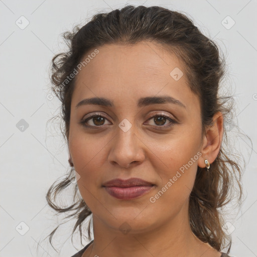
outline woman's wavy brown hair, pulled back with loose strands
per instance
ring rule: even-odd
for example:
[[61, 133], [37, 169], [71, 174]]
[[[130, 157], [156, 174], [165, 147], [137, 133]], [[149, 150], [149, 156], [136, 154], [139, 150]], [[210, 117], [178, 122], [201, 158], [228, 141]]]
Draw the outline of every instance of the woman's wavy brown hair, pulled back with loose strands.
[[[219, 96], [218, 88], [225, 74], [225, 58], [217, 45], [204, 36], [193, 22], [181, 12], [162, 7], [125, 6], [121, 10], [94, 15], [83, 27], [75, 26], [73, 32], [65, 32], [63, 37], [69, 47], [67, 52], [57, 54], [52, 59], [52, 90], [62, 103], [61, 118], [64, 122], [62, 134], [68, 142], [71, 97], [75, 79], [65, 84], [63, 81], [80, 63], [85, 54], [106, 44], [135, 44], [140, 41], [159, 43], [167, 51], [175, 53], [185, 65], [188, 84], [199, 96], [203, 129], [212, 124], [217, 111], [224, 116], [224, 124], [232, 113], [232, 96]], [[226, 106], [225, 106], [226, 105]], [[61, 128], [62, 130], [62, 128]], [[202, 130], [204, 133], [204, 130]], [[237, 161], [228, 156], [227, 134], [224, 126], [223, 141], [217, 158], [210, 169], [198, 167], [196, 180], [189, 200], [189, 218], [193, 233], [203, 242], [208, 242], [220, 251], [231, 247], [231, 238], [223, 226], [222, 207], [237, 196], [241, 203], [241, 168]], [[76, 217], [72, 235], [77, 227], [82, 236], [81, 225], [91, 214], [90, 209], [78, 196], [77, 184], [74, 185], [74, 203], [68, 207], [57, 206], [56, 196], [71, 184], [74, 179], [72, 169], [68, 177], [58, 184], [53, 183], [47, 192], [48, 204], [57, 212], [72, 212], [68, 217]], [[76, 201], [75, 201], [76, 200]], [[50, 234], [50, 242], [56, 227]], [[88, 225], [90, 237], [90, 222]], [[226, 241], [228, 243], [226, 244]], [[82, 243], [82, 241], [81, 241]], [[52, 244], [52, 243], [51, 243]]]

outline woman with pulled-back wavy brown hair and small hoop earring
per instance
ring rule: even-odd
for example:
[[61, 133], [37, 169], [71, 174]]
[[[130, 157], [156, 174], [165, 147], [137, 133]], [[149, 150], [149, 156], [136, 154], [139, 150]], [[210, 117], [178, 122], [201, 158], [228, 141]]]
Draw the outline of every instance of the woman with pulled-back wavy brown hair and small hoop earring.
[[[92, 214], [94, 240], [73, 257], [228, 256], [221, 209], [231, 187], [241, 200], [241, 170], [223, 149], [232, 110], [218, 94], [215, 43], [182, 13], [144, 6], [97, 14], [64, 37], [51, 78], [73, 168], [47, 200], [77, 217], [80, 236]], [[74, 204], [54, 204], [72, 185]]]

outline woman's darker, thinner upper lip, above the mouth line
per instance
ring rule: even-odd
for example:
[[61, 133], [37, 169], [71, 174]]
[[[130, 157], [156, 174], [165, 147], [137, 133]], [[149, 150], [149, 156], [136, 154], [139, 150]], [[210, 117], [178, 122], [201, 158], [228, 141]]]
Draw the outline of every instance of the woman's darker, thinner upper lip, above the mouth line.
[[131, 178], [127, 180], [113, 179], [105, 182], [104, 187], [135, 187], [135, 186], [153, 186], [154, 184], [143, 179]]

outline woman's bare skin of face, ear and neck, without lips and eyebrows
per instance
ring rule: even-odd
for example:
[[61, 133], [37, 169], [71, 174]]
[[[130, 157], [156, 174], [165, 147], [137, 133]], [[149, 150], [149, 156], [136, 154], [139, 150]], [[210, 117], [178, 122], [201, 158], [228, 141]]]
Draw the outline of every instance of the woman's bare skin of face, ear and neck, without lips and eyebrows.
[[[82, 256], [219, 257], [220, 252], [192, 233], [188, 205], [197, 166], [204, 168], [205, 159], [211, 165], [218, 155], [222, 114], [214, 115], [214, 125], [206, 128], [203, 137], [197, 95], [190, 90], [185, 75], [178, 81], [170, 75], [175, 67], [183, 71], [183, 63], [158, 43], [110, 44], [98, 50], [96, 57], [76, 75], [68, 138], [72, 162], [80, 176], [78, 188], [93, 214], [94, 242]], [[172, 96], [185, 108], [174, 103], [137, 106], [140, 97], [159, 95]], [[89, 97], [108, 98], [114, 107], [75, 108]], [[165, 129], [169, 119], [158, 123], [152, 118], [160, 111], [178, 123]], [[89, 119], [87, 124], [95, 127], [89, 129], [79, 123], [88, 113], [107, 118], [98, 122]], [[127, 132], [118, 126], [123, 119], [132, 124]], [[202, 155], [151, 203], [150, 197], [197, 153]], [[152, 182], [156, 187], [133, 200], [116, 199], [102, 187], [108, 180], [132, 177]], [[126, 234], [119, 229], [124, 222], [131, 229]]]

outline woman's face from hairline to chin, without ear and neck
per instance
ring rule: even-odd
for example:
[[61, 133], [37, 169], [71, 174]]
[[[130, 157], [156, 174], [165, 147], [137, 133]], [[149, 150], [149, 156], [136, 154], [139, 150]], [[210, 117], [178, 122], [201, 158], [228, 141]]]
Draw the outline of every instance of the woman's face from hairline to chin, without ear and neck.
[[[68, 142], [81, 196], [114, 230], [126, 222], [131, 233], [148, 231], [188, 215], [202, 134], [200, 102], [181, 73], [183, 63], [158, 43], [98, 51], [76, 75], [71, 101]], [[156, 98], [161, 96], [170, 98]], [[98, 104], [80, 103], [88, 98]], [[103, 187], [117, 178], [154, 186], [120, 199]]]

